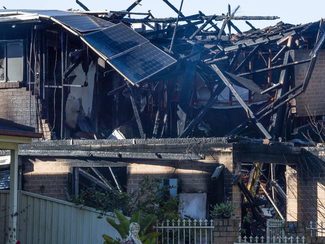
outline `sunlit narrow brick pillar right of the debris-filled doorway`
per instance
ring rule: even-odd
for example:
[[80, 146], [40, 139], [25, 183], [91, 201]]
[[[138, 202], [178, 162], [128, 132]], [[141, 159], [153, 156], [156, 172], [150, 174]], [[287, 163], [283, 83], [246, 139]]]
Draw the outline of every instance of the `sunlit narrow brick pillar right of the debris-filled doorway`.
[[286, 165], [286, 220], [297, 221], [298, 219], [298, 201], [297, 201], [297, 171], [289, 165]]

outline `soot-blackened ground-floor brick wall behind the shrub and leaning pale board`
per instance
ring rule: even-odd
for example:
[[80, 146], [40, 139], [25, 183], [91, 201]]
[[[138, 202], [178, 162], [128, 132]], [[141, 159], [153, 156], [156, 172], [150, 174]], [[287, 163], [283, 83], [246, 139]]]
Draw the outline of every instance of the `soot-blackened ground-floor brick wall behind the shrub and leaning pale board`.
[[[212, 161], [167, 161], [130, 163], [127, 166], [127, 189], [139, 188], [139, 181], [144, 175], [156, 178], [178, 178], [180, 180], [180, 192], [194, 193], [207, 192], [215, 194], [217, 202], [232, 201], [237, 206], [233, 218], [241, 216], [240, 202], [241, 191], [237, 185], [232, 185], [233, 175], [240, 172], [240, 162], [234, 160], [232, 151], [220, 151], [213, 153]], [[211, 175], [216, 166], [224, 164], [223, 178], [211, 180]]]

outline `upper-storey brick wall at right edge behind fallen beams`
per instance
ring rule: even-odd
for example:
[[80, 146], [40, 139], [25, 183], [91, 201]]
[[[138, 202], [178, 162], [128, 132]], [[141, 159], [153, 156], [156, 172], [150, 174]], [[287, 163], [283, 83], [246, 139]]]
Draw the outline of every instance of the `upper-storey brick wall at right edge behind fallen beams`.
[[[293, 61], [307, 59], [311, 50], [291, 50], [290, 55]], [[309, 63], [294, 66], [295, 84], [304, 81]], [[296, 98], [297, 116], [308, 116], [306, 108], [310, 109], [312, 115], [325, 114], [325, 50], [320, 50], [315, 67], [313, 69], [308, 87], [304, 94]]]

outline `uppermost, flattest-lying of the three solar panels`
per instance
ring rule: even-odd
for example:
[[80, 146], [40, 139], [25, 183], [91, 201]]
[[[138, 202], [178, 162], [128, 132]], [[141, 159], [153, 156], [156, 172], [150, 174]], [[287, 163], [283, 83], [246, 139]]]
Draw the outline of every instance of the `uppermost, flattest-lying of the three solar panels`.
[[80, 32], [102, 29], [114, 25], [111, 22], [91, 15], [61, 15], [53, 18]]

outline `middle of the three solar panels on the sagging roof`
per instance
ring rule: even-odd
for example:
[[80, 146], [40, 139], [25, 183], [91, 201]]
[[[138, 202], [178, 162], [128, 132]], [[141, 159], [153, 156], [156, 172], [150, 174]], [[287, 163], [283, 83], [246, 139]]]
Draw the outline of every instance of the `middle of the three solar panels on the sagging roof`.
[[148, 42], [146, 38], [123, 23], [84, 34], [82, 37], [107, 58]]

